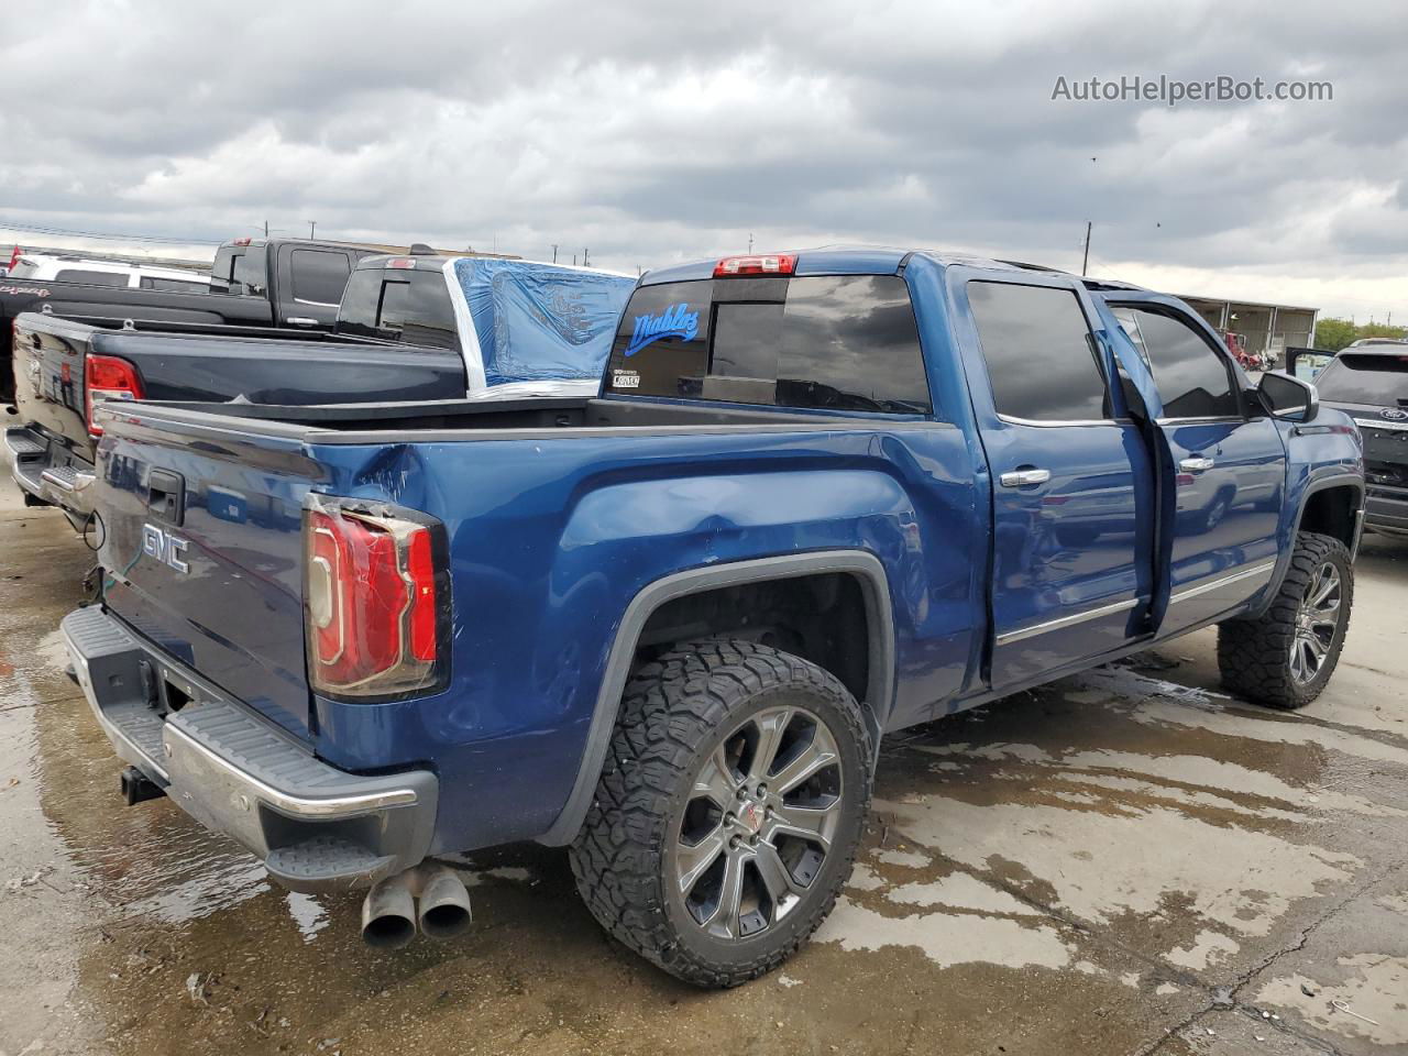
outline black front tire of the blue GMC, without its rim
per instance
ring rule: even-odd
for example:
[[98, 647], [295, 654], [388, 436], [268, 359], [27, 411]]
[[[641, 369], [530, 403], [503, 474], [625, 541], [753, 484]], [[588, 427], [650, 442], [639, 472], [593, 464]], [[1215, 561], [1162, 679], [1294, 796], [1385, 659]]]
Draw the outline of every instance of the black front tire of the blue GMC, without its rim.
[[[1291, 672], [1291, 643], [1301, 601], [1316, 569], [1332, 563], [1340, 576], [1339, 625], [1318, 673], [1300, 681]], [[1354, 603], [1354, 566], [1339, 539], [1316, 532], [1300, 532], [1286, 579], [1270, 608], [1255, 620], [1229, 620], [1218, 625], [1218, 669], [1222, 684], [1257, 704], [1273, 708], [1304, 708], [1315, 700], [1339, 663]]]

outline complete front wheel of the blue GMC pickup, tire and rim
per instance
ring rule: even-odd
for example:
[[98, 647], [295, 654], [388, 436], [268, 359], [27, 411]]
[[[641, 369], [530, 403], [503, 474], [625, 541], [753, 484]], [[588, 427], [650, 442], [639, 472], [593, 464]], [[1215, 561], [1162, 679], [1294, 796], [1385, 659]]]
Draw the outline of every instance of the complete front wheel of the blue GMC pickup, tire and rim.
[[1354, 566], [1345, 543], [1301, 532], [1270, 608], [1218, 627], [1222, 684], [1260, 704], [1304, 708], [1339, 663], [1353, 603]]

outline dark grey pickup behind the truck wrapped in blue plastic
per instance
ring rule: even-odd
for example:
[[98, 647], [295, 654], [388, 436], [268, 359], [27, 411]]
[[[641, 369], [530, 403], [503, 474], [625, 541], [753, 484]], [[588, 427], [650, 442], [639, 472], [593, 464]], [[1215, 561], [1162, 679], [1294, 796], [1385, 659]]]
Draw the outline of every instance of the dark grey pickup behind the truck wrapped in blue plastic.
[[210, 290], [142, 290], [7, 277], [0, 282], [0, 404], [11, 387], [11, 324], [44, 311], [121, 325], [175, 322], [227, 327], [331, 329], [348, 276], [363, 256], [384, 246], [300, 238], [225, 242], [215, 252]]

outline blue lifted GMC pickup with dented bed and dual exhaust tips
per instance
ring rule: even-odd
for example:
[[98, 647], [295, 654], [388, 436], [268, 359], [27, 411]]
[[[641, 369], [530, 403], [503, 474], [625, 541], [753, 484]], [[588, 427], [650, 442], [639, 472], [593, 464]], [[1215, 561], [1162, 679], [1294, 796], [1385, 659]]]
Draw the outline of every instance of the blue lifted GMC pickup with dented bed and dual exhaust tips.
[[436, 856], [566, 845], [701, 986], [831, 910], [890, 731], [1209, 624], [1314, 700], [1362, 531], [1353, 422], [1181, 301], [928, 251], [652, 272], [594, 398], [97, 414], [130, 800], [389, 946], [467, 919]]

